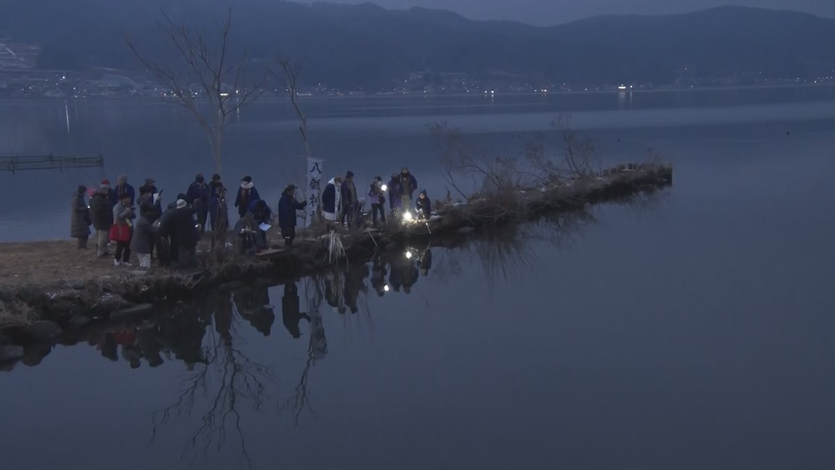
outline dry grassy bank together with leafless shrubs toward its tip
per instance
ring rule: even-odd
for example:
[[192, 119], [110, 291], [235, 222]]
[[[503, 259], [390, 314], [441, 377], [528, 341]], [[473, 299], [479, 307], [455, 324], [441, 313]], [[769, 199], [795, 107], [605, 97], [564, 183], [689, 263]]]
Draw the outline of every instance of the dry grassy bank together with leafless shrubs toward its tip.
[[[267, 232], [268, 249], [254, 256], [239, 254], [237, 243], [213, 243], [207, 233], [198, 246], [199, 267], [182, 272], [159, 265], [150, 271], [114, 268], [109, 258], [74, 249], [71, 241], [0, 243], [0, 361], [23, 354], [23, 345], [55, 344], [67, 332], [136, 321], [219, 290], [316, 278], [375, 257], [403, 255], [410, 247], [424, 254], [454, 249], [490, 238], [499, 228], [519, 233], [550, 227], [544, 239], [555, 240], [590, 207], [639, 202], [672, 185], [672, 166], [651, 152], [643, 162], [604, 168], [595, 165], [591, 140], [580, 138], [568, 120], [559, 118], [552, 127], [525, 144], [524, 152], [506, 156], [445, 123], [433, 125], [448, 193], [434, 200], [431, 217], [418, 219], [411, 209], [392, 214], [380, 228], [363, 223], [333, 231], [314, 220], [298, 231], [290, 251], [276, 223]], [[368, 216], [363, 214], [366, 222]]]

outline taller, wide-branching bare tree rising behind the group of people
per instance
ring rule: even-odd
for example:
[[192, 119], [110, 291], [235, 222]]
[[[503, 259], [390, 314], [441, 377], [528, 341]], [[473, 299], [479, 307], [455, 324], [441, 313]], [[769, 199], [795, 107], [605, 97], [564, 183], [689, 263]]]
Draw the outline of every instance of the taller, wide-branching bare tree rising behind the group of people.
[[125, 41], [139, 62], [171, 89], [166, 97], [189, 110], [205, 130], [218, 173], [223, 169], [224, 130], [238, 111], [254, 103], [264, 90], [266, 76], [251, 79], [249, 49], [236, 53], [231, 47], [232, 8], [223, 23], [216, 23], [217, 38], [175, 23], [162, 9], [164, 19], [157, 22], [164, 38], [174, 49], [175, 64], [160, 64], [147, 59], [125, 35]]

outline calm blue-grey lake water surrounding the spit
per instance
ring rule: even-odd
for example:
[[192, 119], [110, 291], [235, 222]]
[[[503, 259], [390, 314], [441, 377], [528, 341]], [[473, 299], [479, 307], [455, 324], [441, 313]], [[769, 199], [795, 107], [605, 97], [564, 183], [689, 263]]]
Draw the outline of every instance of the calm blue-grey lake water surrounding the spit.
[[[326, 173], [357, 181], [409, 166], [443, 197], [428, 125], [509, 154], [571, 113], [603, 161], [660, 152], [674, 186], [433, 249], [417, 278], [423, 247], [392, 253], [382, 296], [371, 264], [301, 279], [317, 328], [301, 319], [299, 338], [293, 285], [255, 285], [34, 351], [0, 374], [4, 468], [835, 466], [833, 88], [303, 105]], [[2, 241], [67, 238], [68, 195], [102, 173], [175, 194], [213, 172], [170, 105], [8, 101], [0, 124], [3, 153], [105, 158], [0, 175]], [[251, 174], [276, 202], [302, 152], [286, 102], [256, 105], [230, 129], [225, 179]]]

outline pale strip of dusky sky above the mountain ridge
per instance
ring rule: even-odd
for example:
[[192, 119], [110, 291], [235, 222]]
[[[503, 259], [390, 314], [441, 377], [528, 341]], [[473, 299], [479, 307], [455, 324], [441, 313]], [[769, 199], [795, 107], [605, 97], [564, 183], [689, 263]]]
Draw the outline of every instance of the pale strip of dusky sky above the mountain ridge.
[[[364, 0], [326, 0], [366, 3]], [[310, 3], [307, 0], [305, 3]], [[443, 8], [472, 19], [550, 25], [599, 14], [686, 13], [723, 5], [777, 8], [835, 18], [835, 0], [372, 0], [385, 8]]]

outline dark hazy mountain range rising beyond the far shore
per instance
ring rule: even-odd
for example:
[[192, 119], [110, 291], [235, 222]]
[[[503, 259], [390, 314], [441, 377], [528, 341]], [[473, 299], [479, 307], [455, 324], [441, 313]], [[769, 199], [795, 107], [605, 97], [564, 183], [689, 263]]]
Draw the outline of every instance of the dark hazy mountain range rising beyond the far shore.
[[[15, 1], [3, 6], [0, 37], [40, 44], [40, 69], [137, 69], [124, 32], [148, 54], [162, 54], [159, 7], [194, 28], [213, 27], [225, 14], [223, 0]], [[235, 41], [250, 43], [254, 56], [303, 59], [308, 82], [344, 88], [389, 87], [427, 68], [555, 84], [811, 78], [835, 69], [835, 19], [758, 8], [601, 16], [539, 28], [371, 3], [237, 0], [233, 28]]]

